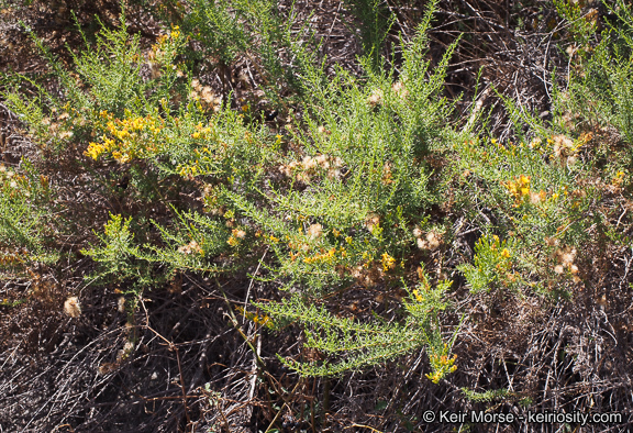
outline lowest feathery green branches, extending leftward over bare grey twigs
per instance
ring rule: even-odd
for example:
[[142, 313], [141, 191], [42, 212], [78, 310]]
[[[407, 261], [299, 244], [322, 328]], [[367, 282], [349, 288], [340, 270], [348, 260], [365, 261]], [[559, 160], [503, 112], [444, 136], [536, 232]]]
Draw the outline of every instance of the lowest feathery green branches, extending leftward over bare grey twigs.
[[446, 292], [452, 281], [431, 287], [424, 275], [423, 284], [403, 302], [402, 322], [388, 323], [375, 317], [373, 322], [333, 315], [325, 308], [309, 304], [299, 296], [281, 302], [257, 303], [280, 330], [290, 323], [299, 323], [306, 335], [304, 346], [326, 356], [323, 362], [303, 362], [280, 358], [288, 367], [302, 376], [335, 376], [358, 370], [425, 347], [431, 360], [426, 376], [437, 384], [453, 373], [456, 356], [449, 357], [458, 329], [445, 341], [440, 312], [448, 304]]

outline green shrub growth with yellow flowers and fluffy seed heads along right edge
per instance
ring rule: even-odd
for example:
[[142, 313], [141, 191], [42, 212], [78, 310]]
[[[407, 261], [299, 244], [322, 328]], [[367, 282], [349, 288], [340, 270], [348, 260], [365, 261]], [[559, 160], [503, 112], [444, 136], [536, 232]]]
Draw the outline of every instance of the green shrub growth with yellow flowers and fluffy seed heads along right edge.
[[523, 287], [557, 296], [581, 284], [582, 249], [595, 242], [588, 233], [604, 224], [598, 203], [629, 181], [630, 153], [622, 145], [630, 142], [630, 8], [618, 3], [619, 23], [599, 41], [591, 11], [573, 2], [557, 7], [571, 23], [573, 68], [568, 89], [553, 90], [552, 122], [506, 100], [519, 142], [456, 146], [457, 206], [489, 233], [512, 240], [480, 237], [474, 264], [459, 266], [473, 291]]

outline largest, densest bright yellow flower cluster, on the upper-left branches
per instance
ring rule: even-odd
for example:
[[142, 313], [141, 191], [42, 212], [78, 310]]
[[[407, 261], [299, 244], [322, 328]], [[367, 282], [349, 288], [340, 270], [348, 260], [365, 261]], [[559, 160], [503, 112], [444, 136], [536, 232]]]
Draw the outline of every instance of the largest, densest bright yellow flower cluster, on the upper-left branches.
[[[126, 113], [131, 114], [131, 113]], [[164, 120], [153, 115], [130, 116], [123, 120], [112, 119], [102, 111], [101, 116], [109, 119], [106, 129], [111, 137], [103, 135], [102, 143], [90, 143], [84, 153], [92, 159], [110, 154], [119, 163], [127, 163], [158, 151], [158, 135], [165, 127]]]

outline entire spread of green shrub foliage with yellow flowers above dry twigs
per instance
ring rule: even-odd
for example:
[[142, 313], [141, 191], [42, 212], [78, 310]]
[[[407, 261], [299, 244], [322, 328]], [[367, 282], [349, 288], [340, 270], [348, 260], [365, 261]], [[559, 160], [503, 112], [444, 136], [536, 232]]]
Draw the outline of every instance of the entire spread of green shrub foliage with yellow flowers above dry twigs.
[[[457, 270], [475, 293], [570, 291], [586, 277], [578, 264], [593, 227], [628, 242], [618, 225], [602, 230], [599, 202], [630, 190], [630, 151], [595, 136], [612, 127], [631, 142], [632, 15], [620, 4], [624, 25], [610, 30], [618, 37], [606, 33], [592, 46], [593, 23], [558, 3], [574, 21], [575, 43], [586, 45], [578, 73], [567, 91], [553, 90], [552, 122], [507, 100], [521, 132], [515, 143], [500, 143], [451, 121], [443, 87], [456, 45], [435, 67], [426, 53], [436, 2], [403, 44], [397, 70], [379, 55], [391, 18], [379, 2], [353, 4], [365, 22], [359, 76], [326, 74], [310, 32], [291, 31], [292, 13], [286, 20], [271, 1], [195, 0], [147, 53], [124, 15], [95, 44], [84, 35], [70, 69], [36, 40], [59, 90], [22, 77], [37, 97], [18, 87], [4, 97], [43, 156], [74, 155], [59, 171], [71, 167], [116, 203], [103, 232], [84, 244], [98, 265], [91, 284], [115, 281], [141, 295], [179, 273], [236, 275], [258, 264], [265, 271], [257, 278], [279, 288], [281, 301], [257, 303], [264, 317], [246, 307], [244, 318], [277, 330], [299, 324], [320, 357], [282, 358], [286, 365], [304, 376], [341, 375], [424, 347], [426, 377], [437, 384], [456, 368], [459, 326], [447, 299], [462, 295], [440, 258], [460, 235], [457, 220], [482, 233], [471, 258], [458, 254]], [[178, 4], [166, 8], [179, 13]], [[204, 55], [222, 71], [222, 95], [201, 82]], [[240, 58], [252, 63], [285, 121], [266, 124], [253, 101], [231, 95], [230, 66]], [[51, 221], [58, 208], [45, 178], [26, 163], [20, 169], [0, 173], [2, 265], [54, 258], [51, 233], [66, 223]], [[127, 179], [125, 187], [113, 187], [114, 177]], [[104, 215], [93, 216], [88, 227], [103, 224]], [[424, 271], [431, 260], [440, 263], [433, 278]], [[396, 310], [357, 318], [325, 301], [358, 289], [381, 299], [408, 295]]]

